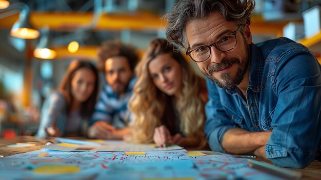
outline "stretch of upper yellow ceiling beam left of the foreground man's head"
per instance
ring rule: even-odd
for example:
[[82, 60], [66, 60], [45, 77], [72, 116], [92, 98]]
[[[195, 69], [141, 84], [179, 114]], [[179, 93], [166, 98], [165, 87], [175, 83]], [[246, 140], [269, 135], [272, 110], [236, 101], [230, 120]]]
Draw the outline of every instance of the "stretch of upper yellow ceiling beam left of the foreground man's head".
[[[0, 13], [1, 15], [1, 13]], [[11, 28], [18, 14], [0, 19], [0, 28]], [[48, 26], [50, 30], [73, 31], [90, 26], [93, 21], [91, 12], [31, 12], [30, 22], [36, 29]], [[128, 14], [101, 14], [94, 30], [156, 30], [166, 25], [160, 16], [149, 12]], [[165, 28], [165, 26], [164, 26]]]

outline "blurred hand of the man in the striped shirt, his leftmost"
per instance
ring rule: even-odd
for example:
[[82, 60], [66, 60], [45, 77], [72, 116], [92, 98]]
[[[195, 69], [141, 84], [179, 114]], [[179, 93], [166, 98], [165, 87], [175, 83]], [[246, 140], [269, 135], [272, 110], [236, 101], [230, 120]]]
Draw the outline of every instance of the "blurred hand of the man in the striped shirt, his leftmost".
[[104, 121], [98, 121], [90, 126], [88, 136], [90, 138], [112, 139], [114, 131], [116, 131], [114, 126]]

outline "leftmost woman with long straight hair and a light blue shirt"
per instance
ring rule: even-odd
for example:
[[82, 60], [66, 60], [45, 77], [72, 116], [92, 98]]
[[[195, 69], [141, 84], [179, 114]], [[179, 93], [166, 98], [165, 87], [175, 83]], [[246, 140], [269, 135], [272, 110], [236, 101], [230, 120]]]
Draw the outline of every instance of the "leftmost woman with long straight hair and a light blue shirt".
[[47, 97], [37, 137], [85, 136], [98, 92], [98, 73], [88, 61], [73, 61], [58, 90]]

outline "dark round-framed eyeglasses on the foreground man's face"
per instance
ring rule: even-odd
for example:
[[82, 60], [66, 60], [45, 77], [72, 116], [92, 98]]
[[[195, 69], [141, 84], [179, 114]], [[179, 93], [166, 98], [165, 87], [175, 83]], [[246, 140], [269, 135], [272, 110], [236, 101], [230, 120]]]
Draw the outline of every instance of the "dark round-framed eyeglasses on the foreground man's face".
[[196, 49], [186, 50], [186, 55], [190, 56], [196, 63], [204, 62], [211, 56], [211, 47], [214, 46], [216, 49], [222, 52], [230, 51], [236, 46], [236, 32], [239, 30], [241, 25], [238, 26], [236, 31], [233, 31], [215, 41], [215, 43], [208, 46], [199, 46]]

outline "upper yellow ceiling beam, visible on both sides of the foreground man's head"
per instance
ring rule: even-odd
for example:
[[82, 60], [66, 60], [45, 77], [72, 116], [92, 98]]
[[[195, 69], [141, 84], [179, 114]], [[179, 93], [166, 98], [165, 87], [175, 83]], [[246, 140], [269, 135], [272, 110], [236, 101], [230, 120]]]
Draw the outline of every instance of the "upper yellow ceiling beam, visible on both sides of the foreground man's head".
[[[0, 13], [1, 15], [1, 13]], [[128, 14], [106, 13], [99, 16], [94, 30], [157, 30], [165, 28], [166, 22], [160, 15], [150, 12], [133, 12]], [[10, 29], [18, 19], [18, 14], [0, 19], [0, 28]], [[55, 31], [74, 31], [92, 24], [92, 12], [31, 12], [30, 22], [36, 29], [49, 26]], [[282, 36], [283, 27], [288, 22], [266, 22], [262, 16], [252, 17], [251, 31], [258, 35]]]

